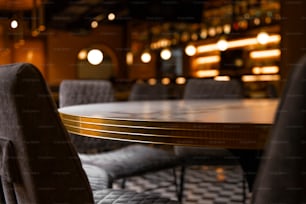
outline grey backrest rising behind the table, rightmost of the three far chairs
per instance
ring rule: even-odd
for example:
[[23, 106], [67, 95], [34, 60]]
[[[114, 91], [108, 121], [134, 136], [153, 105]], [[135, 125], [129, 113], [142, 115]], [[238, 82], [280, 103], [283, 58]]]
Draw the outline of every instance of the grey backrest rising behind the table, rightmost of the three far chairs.
[[189, 79], [184, 99], [234, 99], [243, 98], [242, 85], [237, 80]]

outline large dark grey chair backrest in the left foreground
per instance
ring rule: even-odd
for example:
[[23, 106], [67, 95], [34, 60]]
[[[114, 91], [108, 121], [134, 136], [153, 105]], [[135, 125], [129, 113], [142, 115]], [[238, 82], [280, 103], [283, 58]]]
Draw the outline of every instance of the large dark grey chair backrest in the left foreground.
[[93, 203], [88, 179], [31, 64], [0, 66], [0, 174], [6, 203]]

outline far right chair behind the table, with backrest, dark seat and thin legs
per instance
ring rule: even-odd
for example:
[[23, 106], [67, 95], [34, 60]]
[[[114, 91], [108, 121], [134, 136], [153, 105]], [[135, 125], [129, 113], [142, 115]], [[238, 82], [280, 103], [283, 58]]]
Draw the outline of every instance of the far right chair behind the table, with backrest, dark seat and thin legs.
[[[189, 79], [183, 99], [239, 99], [243, 98], [242, 85], [238, 80], [215, 81], [213, 79]], [[239, 165], [237, 157], [227, 149], [174, 146], [176, 155], [181, 158], [180, 200], [183, 199], [186, 168], [192, 165]], [[244, 180], [244, 179], [243, 179]], [[244, 181], [243, 181], [244, 183]], [[243, 189], [245, 189], [243, 187]], [[243, 190], [243, 196], [245, 192]]]

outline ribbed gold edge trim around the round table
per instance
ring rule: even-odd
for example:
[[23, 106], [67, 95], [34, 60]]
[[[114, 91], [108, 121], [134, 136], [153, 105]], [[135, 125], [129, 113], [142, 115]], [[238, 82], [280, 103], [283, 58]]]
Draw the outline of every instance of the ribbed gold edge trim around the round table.
[[[170, 145], [201, 146], [207, 144], [210, 147], [223, 148], [240, 148], [243, 145], [243, 147], [247, 149], [258, 149], [264, 146], [266, 135], [268, 134], [270, 127], [270, 125], [256, 125], [255, 127], [258, 131], [252, 131], [249, 129], [247, 124], [239, 124], [239, 131], [231, 131], [231, 127], [236, 126], [237, 124], [215, 124], [220, 127], [216, 129], [215, 125], [214, 128], [208, 128], [211, 125], [205, 126], [206, 128], [197, 126], [198, 128], [195, 130], [194, 126], [193, 129], [190, 129], [186, 128], [188, 125], [184, 128], [180, 125], [180, 128], [174, 129], [173, 126], [171, 128], [160, 127], [156, 126], [155, 122], [148, 123], [146, 121], [145, 126], [138, 126], [135, 128], [135, 121], [133, 121], [134, 126], [132, 127], [121, 125], [121, 123], [125, 122], [123, 120], [92, 120], [91, 118], [86, 117], [66, 114], [60, 115], [68, 131], [75, 134]], [[94, 122], [97, 122], [98, 124], [95, 124]], [[137, 125], [141, 124], [141, 122], [137, 123]], [[153, 126], [148, 127], [150, 124], [153, 124]], [[146, 130], [146, 128], [149, 128], [149, 130]], [[252, 128], [254, 128], [254, 126], [252, 126]], [[171, 131], [171, 134], [169, 131]], [[224, 132], [226, 132], [226, 136], [222, 136]], [[256, 132], [256, 134], [254, 134], [254, 132]], [[228, 134], [231, 134], [231, 136], [229, 137]]]

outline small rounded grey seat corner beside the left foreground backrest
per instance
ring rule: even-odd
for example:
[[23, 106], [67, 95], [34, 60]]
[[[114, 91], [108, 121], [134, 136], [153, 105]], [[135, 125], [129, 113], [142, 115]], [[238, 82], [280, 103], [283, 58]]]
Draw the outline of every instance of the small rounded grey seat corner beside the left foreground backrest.
[[112, 179], [103, 169], [95, 165], [84, 163], [82, 167], [87, 175], [91, 190], [95, 191], [111, 187]]

